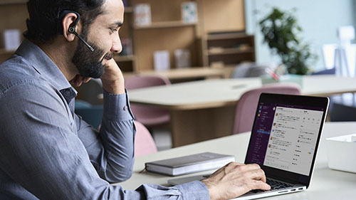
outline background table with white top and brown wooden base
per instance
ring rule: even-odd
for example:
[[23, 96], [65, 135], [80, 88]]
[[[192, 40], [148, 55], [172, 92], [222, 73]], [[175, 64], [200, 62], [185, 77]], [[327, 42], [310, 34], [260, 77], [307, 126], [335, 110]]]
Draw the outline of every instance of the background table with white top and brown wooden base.
[[[356, 93], [356, 78], [305, 76], [303, 95]], [[163, 107], [171, 114], [174, 147], [230, 135], [236, 102], [260, 87], [260, 78], [201, 80], [129, 92], [130, 102]]]

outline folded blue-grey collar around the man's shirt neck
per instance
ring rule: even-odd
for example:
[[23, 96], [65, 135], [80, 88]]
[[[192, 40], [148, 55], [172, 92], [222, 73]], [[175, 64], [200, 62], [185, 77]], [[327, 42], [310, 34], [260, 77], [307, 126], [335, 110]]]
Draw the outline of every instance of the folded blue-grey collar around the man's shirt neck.
[[[57, 90], [63, 90], [71, 87], [70, 83], [63, 75], [58, 66], [53, 63], [51, 58], [49, 58], [46, 53], [42, 51], [41, 48], [36, 46], [36, 44], [24, 39], [21, 43], [21, 46], [16, 50], [16, 53], [19, 56], [25, 58], [32, 67], [38, 71], [39, 74], [46, 78]], [[75, 90], [74, 90], [75, 91]], [[75, 91], [75, 95], [76, 95]]]

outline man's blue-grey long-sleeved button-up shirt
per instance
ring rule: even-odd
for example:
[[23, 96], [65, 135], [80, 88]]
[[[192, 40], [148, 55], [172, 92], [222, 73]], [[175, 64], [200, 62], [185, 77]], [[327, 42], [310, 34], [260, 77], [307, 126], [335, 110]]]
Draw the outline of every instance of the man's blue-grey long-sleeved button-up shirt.
[[110, 185], [132, 174], [135, 127], [127, 94], [104, 91], [100, 132], [75, 115], [75, 96], [31, 41], [0, 65], [0, 199], [209, 199], [201, 181], [135, 191]]

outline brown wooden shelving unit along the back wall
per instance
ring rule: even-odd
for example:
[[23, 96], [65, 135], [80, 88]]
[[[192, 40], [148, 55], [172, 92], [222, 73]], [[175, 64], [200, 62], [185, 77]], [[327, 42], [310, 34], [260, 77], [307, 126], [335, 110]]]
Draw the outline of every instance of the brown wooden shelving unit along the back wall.
[[[181, 16], [181, 6], [185, 1], [197, 3], [197, 23], [184, 23]], [[12, 53], [4, 51], [4, 41], [1, 31], [18, 28], [26, 31], [27, 0], [0, 1], [0, 63], [9, 58]], [[243, 33], [226, 33], [211, 35], [211, 32], [243, 31], [244, 0], [127, 0], [125, 1], [125, 22], [120, 29], [120, 38], [131, 41], [132, 55], [115, 56], [116, 62], [125, 73], [141, 73], [154, 70], [153, 56], [155, 51], [169, 51], [172, 73], [179, 76], [189, 69], [175, 69], [174, 51], [187, 49], [191, 52], [192, 71], [206, 73], [206, 69], [197, 70], [201, 66], [209, 67], [216, 60], [230, 60], [234, 64], [239, 60], [254, 59], [254, 47], [226, 46], [224, 43], [244, 43]], [[135, 6], [150, 4], [152, 23], [150, 26], [135, 25]], [[162, 9], [162, 6], [164, 9]], [[218, 43], [219, 45], [215, 45]], [[216, 46], [217, 48], [211, 48]], [[251, 47], [250, 47], [251, 46]], [[125, 53], [127, 53], [125, 52]], [[252, 56], [253, 55], [253, 56]], [[236, 60], [236, 58], [239, 60]], [[169, 73], [169, 76], [174, 77]]]

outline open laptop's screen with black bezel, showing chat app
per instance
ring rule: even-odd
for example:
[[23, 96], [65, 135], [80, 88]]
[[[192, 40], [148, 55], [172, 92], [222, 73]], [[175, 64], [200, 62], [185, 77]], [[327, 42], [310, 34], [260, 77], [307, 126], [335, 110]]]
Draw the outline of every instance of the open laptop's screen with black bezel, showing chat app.
[[245, 162], [309, 176], [327, 107], [325, 98], [261, 97]]

